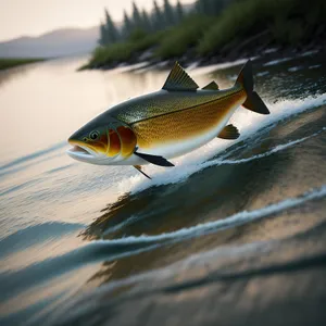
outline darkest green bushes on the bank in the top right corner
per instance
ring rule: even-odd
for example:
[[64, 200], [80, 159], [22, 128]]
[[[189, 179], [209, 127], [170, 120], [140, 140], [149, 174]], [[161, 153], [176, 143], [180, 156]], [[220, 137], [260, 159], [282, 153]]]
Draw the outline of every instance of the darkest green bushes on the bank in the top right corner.
[[262, 30], [269, 30], [276, 43], [294, 46], [325, 28], [325, 15], [324, 0], [238, 0], [216, 18], [197, 49], [208, 54]]

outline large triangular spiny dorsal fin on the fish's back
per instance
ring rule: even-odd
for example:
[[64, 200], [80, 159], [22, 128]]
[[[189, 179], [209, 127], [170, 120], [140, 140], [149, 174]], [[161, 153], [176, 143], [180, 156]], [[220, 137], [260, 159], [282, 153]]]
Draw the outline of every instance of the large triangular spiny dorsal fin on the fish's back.
[[176, 62], [170, 72], [170, 75], [162, 87], [165, 90], [196, 90], [199, 86]]

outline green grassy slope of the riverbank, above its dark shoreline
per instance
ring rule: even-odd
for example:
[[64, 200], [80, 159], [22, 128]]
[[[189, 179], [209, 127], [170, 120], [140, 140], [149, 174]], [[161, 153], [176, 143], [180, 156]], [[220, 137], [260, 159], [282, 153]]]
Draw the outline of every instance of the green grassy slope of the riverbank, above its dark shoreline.
[[99, 47], [84, 67], [135, 61], [148, 49], [152, 60], [180, 59], [185, 53], [209, 57], [241, 45], [251, 51], [253, 39], [298, 48], [325, 38], [325, 0], [234, 0], [217, 16], [191, 14], [164, 32], [136, 30], [127, 41]]

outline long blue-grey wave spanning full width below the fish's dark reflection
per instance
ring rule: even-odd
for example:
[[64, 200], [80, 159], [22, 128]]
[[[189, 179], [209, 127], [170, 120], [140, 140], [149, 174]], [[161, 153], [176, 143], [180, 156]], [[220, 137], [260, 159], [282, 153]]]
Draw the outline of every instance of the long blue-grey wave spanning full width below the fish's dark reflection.
[[[192, 227], [181, 228], [176, 231], [160, 234], [156, 236], [130, 236], [113, 240], [91, 241], [70, 251], [63, 255], [53, 259], [47, 259], [42, 262], [33, 264], [24, 269], [12, 273], [0, 274], [2, 283], [2, 298], [12, 297], [34, 284], [49, 281], [57, 275], [62, 275], [78, 268], [80, 265], [96, 263], [98, 261], [113, 261], [141, 252], [153, 250], [163, 243], [178, 242], [197, 236], [203, 236], [216, 233], [218, 230], [242, 225], [255, 220], [271, 216], [303, 204], [310, 200], [316, 200], [326, 197], [326, 185], [318, 189], [311, 190], [296, 198], [289, 198], [274, 204], [269, 204], [254, 211], [242, 211], [224, 220], [198, 224]], [[216, 235], [218, 236], [218, 235]]]

